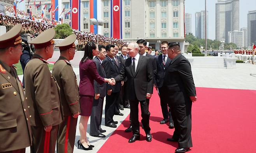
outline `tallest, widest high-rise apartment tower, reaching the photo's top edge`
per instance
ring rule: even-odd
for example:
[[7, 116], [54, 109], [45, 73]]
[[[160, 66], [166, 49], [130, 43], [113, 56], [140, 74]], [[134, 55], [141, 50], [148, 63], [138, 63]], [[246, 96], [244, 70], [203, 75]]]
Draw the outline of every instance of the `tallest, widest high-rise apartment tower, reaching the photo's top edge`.
[[239, 30], [239, 0], [218, 0], [215, 9], [215, 39], [228, 42], [228, 32]]

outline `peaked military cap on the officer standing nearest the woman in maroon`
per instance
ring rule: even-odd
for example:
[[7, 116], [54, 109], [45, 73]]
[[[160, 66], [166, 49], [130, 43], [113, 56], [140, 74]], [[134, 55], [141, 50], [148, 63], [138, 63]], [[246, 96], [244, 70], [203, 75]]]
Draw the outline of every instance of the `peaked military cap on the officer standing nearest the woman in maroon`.
[[56, 44], [56, 47], [59, 47], [60, 50], [67, 50], [70, 48], [75, 47], [75, 40], [76, 40], [76, 35], [72, 34], [65, 38], [61, 43]]

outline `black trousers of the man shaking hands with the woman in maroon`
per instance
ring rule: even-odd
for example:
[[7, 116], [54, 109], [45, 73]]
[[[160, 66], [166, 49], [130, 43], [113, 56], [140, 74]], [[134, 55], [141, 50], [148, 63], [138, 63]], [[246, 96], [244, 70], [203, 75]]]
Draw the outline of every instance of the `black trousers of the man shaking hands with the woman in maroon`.
[[149, 106], [147, 104], [147, 101], [139, 101], [138, 99], [135, 99], [133, 101], [130, 100], [130, 118], [132, 123], [132, 132], [133, 136], [139, 136], [140, 135], [140, 123], [139, 123], [139, 103], [140, 103], [140, 110], [141, 110], [141, 116], [142, 116], [142, 124], [144, 127], [144, 131], [150, 132], [149, 127]]

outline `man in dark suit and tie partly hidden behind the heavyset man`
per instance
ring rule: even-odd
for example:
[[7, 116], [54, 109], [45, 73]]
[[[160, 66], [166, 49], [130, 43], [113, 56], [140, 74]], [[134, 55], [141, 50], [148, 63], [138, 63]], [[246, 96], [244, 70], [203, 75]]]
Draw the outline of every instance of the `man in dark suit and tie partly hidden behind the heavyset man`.
[[[156, 90], [159, 91], [160, 95], [163, 92], [161, 87], [163, 86], [163, 83], [164, 83], [163, 78], [165, 77], [165, 68], [168, 67], [168, 65], [171, 62], [171, 59], [168, 58], [167, 56], [167, 49], [168, 49], [168, 42], [161, 42], [162, 54], [156, 57], [157, 73], [155, 74], [155, 78], [156, 78], [155, 87], [156, 87]], [[167, 101], [164, 101], [163, 99], [160, 98], [160, 105], [163, 113], [163, 120], [160, 122], [160, 124], [165, 124], [169, 122], [169, 128], [173, 129], [174, 123], [172, 120], [170, 107], [168, 107]], [[168, 108], [169, 108], [169, 111], [168, 111]]]

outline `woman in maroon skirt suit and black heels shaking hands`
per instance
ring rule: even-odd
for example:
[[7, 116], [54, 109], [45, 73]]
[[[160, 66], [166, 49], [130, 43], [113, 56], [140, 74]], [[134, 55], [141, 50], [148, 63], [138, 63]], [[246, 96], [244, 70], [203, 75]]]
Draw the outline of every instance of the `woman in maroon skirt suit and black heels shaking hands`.
[[79, 94], [81, 103], [81, 118], [79, 122], [80, 139], [77, 142], [78, 148], [84, 150], [92, 150], [93, 145], [89, 145], [89, 141], [86, 136], [87, 124], [89, 116], [91, 115], [91, 109], [93, 106], [94, 88], [93, 80], [96, 80], [99, 84], [105, 82], [113, 85], [111, 79], [102, 78], [97, 72], [96, 64], [93, 62], [93, 56], [98, 55], [98, 45], [94, 42], [88, 42], [84, 47], [84, 57], [79, 64], [80, 82], [79, 82]]

